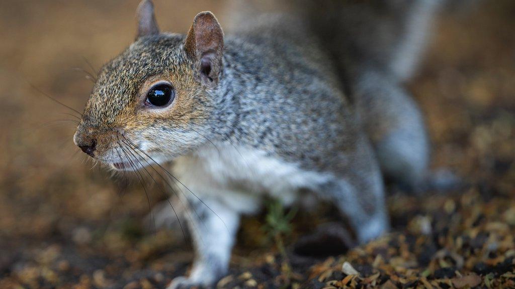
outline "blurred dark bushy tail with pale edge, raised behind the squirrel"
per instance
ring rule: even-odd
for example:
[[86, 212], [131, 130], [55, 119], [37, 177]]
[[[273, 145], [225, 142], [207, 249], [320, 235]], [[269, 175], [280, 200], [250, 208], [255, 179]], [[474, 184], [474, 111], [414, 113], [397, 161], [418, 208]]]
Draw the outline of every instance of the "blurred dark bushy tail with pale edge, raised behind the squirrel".
[[[447, 0], [458, 1], [458, 0]], [[230, 26], [267, 12], [297, 14], [332, 53], [342, 74], [364, 66], [406, 80], [412, 74], [443, 0], [238, 1], [228, 7]]]

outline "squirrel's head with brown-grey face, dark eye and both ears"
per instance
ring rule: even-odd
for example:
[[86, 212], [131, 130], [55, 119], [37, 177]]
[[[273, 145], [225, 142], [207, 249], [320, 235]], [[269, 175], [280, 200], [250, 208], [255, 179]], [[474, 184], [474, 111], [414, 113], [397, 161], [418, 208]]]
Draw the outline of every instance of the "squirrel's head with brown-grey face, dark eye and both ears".
[[171, 160], [202, 145], [222, 108], [224, 34], [211, 12], [187, 35], [160, 33], [153, 4], [138, 7], [136, 40], [101, 68], [74, 142], [118, 170]]

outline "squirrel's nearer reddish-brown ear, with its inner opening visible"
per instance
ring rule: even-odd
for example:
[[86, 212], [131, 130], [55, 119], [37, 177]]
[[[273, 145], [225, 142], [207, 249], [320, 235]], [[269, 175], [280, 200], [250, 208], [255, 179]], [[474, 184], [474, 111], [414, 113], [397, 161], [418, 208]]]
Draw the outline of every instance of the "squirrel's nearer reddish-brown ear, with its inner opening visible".
[[207, 11], [195, 16], [184, 49], [195, 61], [200, 79], [206, 84], [216, 84], [222, 70], [224, 32], [213, 13]]

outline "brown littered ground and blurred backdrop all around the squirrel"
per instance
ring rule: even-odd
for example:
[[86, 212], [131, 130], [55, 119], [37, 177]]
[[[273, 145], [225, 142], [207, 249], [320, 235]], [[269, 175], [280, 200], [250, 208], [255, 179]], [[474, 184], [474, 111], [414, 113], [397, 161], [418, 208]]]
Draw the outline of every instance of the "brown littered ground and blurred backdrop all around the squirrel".
[[[174, 32], [224, 6], [155, 3]], [[0, 288], [162, 288], [188, 270], [181, 234], [144, 225], [139, 183], [93, 166], [73, 144], [67, 111], [31, 87], [82, 110], [92, 83], [80, 69], [98, 69], [132, 41], [137, 4], [0, 3]], [[313, 229], [302, 214], [283, 238], [286, 255], [263, 216], [245, 220], [218, 287], [515, 287], [515, 2], [443, 13], [407, 87], [426, 115], [434, 166], [470, 186], [418, 197], [390, 189], [392, 233], [329, 257], [295, 249]], [[156, 186], [149, 196], [164, 199]]]

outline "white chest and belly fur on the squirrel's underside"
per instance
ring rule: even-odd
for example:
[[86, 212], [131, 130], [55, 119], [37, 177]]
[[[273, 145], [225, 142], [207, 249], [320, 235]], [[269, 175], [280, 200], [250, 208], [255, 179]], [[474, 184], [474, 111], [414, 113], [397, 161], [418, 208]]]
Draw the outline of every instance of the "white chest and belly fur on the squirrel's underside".
[[[316, 189], [329, 174], [266, 156], [263, 151], [219, 143], [176, 159], [176, 177], [200, 198], [215, 198], [241, 213], [252, 213], [263, 196], [284, 205], [300, 201], [298, 189]], [[180, 185], [179, 185], [180, 186]], [[184, 187], [184, 194], [191, 194]]]

